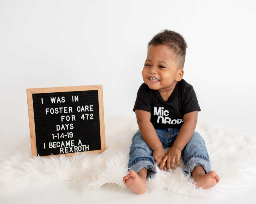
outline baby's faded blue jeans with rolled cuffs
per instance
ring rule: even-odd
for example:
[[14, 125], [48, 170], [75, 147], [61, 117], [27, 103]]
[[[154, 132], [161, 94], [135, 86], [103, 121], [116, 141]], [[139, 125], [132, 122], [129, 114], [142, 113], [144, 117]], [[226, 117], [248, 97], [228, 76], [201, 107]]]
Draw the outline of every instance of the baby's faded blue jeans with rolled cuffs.
[[[163, 148], [171, 147], [179, 133], [177, 128], [155, 129], [156, 133], [163, 145]], [[128, 171], [131, 169], [136, 173], [143, 167], [148, 169], [148, 178], [153, 179], [156, 174], [156, 161], [152, 155], [152, 150], [144, 141], [141, 132], [138, 130], [132, 139], [129, 153]], [[206, 173], [211, 172], [210, 159], [205, 147], [205, 141], [201, 135], [194, 132], [192, 138], [181, 151], [184, 162], [183, 173], [190, 174], [195, 166], [202, 165]]]

